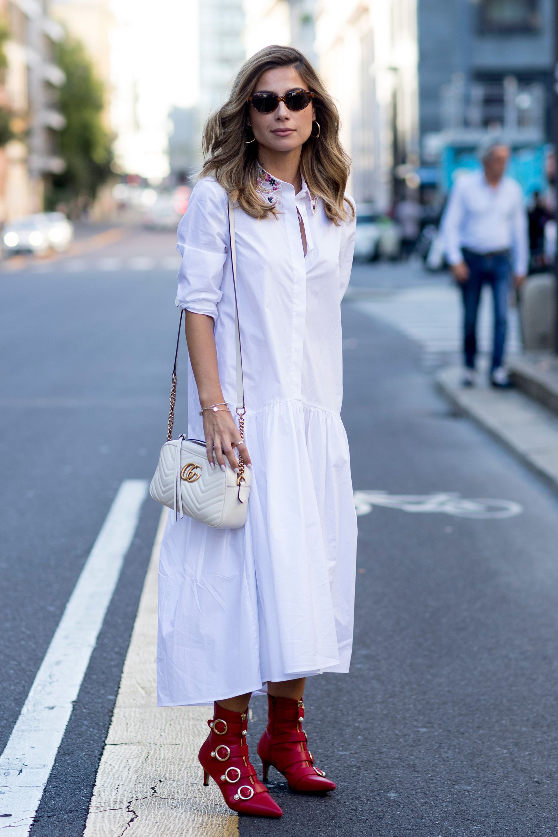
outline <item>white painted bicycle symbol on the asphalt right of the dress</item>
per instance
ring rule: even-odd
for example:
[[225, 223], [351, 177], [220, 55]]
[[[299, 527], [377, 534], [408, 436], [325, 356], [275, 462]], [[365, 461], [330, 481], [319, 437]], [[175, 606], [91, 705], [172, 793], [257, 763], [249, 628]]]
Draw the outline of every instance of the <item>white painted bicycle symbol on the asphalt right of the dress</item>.
[[387, 491], [355, 491], [356, 514], [368, 515], [374, 506], [400, 509], [411, 514], [441, 514], [453, 517], [469, 517], [476, 520], [502, 520], [515, 517], [523, 506], [511, 500], [488, 500], [484, 497], [468, 500], [451, 491], [433, 494], [388, 494]]

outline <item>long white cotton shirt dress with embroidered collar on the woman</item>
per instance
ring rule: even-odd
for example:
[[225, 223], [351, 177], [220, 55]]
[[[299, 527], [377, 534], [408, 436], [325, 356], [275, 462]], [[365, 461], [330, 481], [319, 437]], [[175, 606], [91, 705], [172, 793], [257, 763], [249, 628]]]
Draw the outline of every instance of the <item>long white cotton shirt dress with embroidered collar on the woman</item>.
[[[259, 193], [276, 205], [277, 218], [235, 210], [244, 439], [253, 463], [248, 520], [226, 530], [169, 515], [159, 572], [159, 706], [207, 704], [265, 691], [269, 680], [346, 672], [351, 660], [356, 513], [340, 419], [340, 301], [355, 221], [335, 226], [304, 182], [295, 195], [292, 185], [263, 173]], [[227, 207], [212, 178], [194, 187], [178, 226], [177, 305], [213, 317], [223, 397], [234, 415]], [[193, 439], [203, 439], [199, 410], [188, 364]], [[178, 413], [178, 433], [180, 424]]]

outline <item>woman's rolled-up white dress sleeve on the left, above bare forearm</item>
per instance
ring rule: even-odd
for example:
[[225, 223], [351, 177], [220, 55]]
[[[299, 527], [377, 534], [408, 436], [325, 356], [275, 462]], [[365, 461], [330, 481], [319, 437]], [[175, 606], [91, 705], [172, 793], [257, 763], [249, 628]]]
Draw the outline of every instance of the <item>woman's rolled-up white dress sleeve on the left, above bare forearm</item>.
[[178, 224], [177, 306], [195, 314], [218, 317], [223, 265], [228, 250], [227, 194], [204, 178], [192, 189], [186, 214]]

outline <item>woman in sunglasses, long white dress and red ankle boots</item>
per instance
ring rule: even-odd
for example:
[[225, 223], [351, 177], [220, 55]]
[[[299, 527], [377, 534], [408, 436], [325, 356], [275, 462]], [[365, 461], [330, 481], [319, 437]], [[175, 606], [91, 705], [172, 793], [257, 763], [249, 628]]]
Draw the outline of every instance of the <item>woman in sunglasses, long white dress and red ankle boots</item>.
[[[279, 817], [248, 759], [248, 701], [267, 691], [264, 781], [335, 788], [306, 747], [305, 678], [349, 670], [356, 515], [340, 421], [340, 300], [355, 212], [335, 105], [297, 49], [248, 59], [209, 119], [206, 162], [178, 227], [177, 305], [186, 309], [188, 436], [212, 467], [252, 468], [248, 521], [211, 529], [169, 517], [161, 547], [160, 706], [214, 701], [199, 760], [228, 806]], [[235, 402], [228, 196], [235, 204], [247, 412]], [[202, 418], [199, 413], [201, 413]], [[203, 435], [202, 435], [203, 434]]]

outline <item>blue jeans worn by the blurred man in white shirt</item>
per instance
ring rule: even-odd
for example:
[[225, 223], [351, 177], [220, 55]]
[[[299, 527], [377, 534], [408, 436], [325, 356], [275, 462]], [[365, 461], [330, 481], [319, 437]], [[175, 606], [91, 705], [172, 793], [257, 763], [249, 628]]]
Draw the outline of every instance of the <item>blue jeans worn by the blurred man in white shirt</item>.
[[505, 331], [508, 320], [508, 295], [511, 280], [509, 254], [481, 255], [471, 250], [463, 250], [463, 259], [467, 263], [469, 277], [461, 283], [463, 294], [463, 332], [465, 366], [474, 369], [477, 353], [477, 315], [479, 313], [480, 292], [486, 283], [492, 288], [494, 298], [494, 352], [490, 371], [502, 365], [504, 357]]

